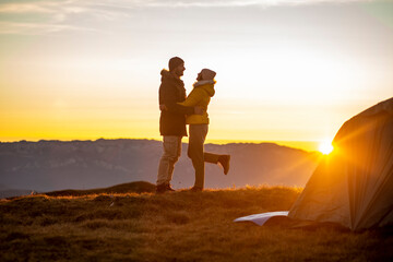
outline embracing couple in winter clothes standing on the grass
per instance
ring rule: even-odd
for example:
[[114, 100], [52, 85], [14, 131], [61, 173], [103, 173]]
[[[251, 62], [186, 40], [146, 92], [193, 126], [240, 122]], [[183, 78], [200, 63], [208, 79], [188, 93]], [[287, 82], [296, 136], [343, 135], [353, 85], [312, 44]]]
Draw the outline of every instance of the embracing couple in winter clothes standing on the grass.
[[179, 57], [169, 60], [169, 71], [164, 69], [159, 86], [159, 132], [163, 135], [163, 156], [159, 160], [157, 193], [175, 191], [170, 187], [175, 164], [181, 154], [181, 139], [187, 136], [189, 124], [188, 156], [195, 169], [195, 182], [191, 191], [202, 191], [204, 187], [204, 163], [221, 164], [224, 174], [229, 170], [229, 155], [204, 152], [204, 142], [209, 131], [207, 106], [214, 96], [216, 73], [202, 69], [198, 74], [193, 90], [186, 95], [184, 83], [180, 79], [186, 70], [184, 61]]

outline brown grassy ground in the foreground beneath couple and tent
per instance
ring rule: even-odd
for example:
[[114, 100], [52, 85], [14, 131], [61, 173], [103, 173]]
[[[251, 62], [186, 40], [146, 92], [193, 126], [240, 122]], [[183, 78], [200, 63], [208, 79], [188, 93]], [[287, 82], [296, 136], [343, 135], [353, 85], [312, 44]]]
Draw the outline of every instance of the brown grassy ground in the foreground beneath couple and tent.
[[291, 229], [233, 223], [243, 215], [288, 210], [299, 189], [80, 193], [2, 200], [0, 261], [393, 259], [392, 231], [355, 234], [334, 227]]

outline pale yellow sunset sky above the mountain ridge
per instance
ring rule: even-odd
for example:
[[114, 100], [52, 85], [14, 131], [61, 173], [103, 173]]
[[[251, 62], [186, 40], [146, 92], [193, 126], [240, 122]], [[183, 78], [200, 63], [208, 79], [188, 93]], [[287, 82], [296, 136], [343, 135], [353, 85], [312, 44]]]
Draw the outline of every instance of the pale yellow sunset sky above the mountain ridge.
[[393, 1], [1, 0], [0, 141], [159, 140], [174, 56], [217, 72], [207, 142], [332, 140], [393, 96]]

